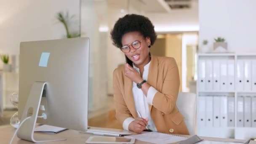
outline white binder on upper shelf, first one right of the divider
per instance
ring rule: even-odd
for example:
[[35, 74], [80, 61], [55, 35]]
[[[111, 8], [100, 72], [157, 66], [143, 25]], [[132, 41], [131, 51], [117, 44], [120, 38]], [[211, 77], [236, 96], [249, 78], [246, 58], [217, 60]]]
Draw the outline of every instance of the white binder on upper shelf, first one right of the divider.
[[243, 91], [244, 89], [244, 62], [241, 59], [237, 60], [237, 91]]

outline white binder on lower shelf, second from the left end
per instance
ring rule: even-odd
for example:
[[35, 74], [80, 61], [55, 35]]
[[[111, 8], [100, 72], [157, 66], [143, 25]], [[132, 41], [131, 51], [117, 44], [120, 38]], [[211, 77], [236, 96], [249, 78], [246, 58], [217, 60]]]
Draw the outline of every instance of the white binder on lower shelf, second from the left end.
[[206, 126], [213, 126], [213, 96], [206, 96]]

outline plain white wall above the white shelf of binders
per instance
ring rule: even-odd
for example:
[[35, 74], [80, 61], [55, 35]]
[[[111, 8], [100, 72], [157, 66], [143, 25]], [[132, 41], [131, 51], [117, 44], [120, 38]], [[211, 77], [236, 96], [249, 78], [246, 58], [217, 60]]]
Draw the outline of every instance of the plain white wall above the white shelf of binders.
[[199, 0], [199, 40], [224, 37], [229, 51], [256, 52], [255, 0]]

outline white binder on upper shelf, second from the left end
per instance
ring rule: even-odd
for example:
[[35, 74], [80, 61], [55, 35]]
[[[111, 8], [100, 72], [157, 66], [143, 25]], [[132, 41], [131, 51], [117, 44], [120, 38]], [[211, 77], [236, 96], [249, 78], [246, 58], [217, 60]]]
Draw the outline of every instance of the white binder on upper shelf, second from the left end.
[[213, 90], [213, 69], [212, 69], [212, 61], [205, 61], [205, 91]]

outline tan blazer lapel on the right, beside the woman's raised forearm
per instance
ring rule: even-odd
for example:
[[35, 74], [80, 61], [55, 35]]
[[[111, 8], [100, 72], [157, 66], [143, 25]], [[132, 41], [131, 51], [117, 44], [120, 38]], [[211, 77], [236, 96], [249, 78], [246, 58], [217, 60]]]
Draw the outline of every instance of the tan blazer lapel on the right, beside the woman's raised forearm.
[[[147, 83], [157, 89], [157, 72], [158, 72], [158, 60], [155, 56], [151, 55], [151, 63], [149, 66], [149, 75]], [[149, 104], [149, 112], [151, 112], [152, 105]]]

